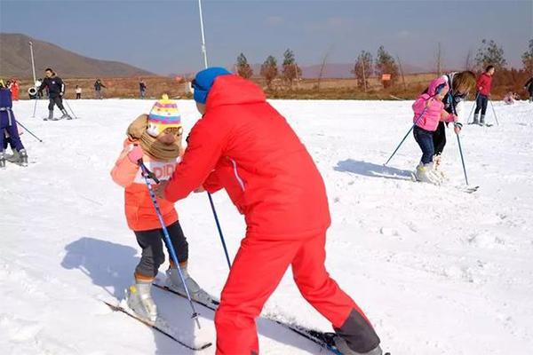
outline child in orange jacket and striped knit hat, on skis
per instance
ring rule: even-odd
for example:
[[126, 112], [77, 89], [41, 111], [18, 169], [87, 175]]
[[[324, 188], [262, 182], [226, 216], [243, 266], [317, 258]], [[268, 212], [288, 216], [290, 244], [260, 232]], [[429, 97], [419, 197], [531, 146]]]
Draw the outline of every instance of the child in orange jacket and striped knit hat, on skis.
[[[147, 169], [160, 181], [168, 180], [183, 154], [182, 131], [177, 104], [163, 95], [163, 99], [155, 102], [150, 114], [141, 114], [131, 122], [127, 130], [128, 137], [123, 143], [123, 152], [111, 170], [115, 183], [125, 188], [126, 219], [142, 248], [142, 256], [134, 273], [135, 284], [128, 290], [127, 303], [140, 317], [151, 321], [157, 318], [151, 286], [159, 266], [164, 262], [164, 236], [138, 162], [142, 159]], [[152, 183], [154, 184], [153, 181]], [[157, 202], [191, 297], [212, 302], [211, 296], [187, 272], [187, 239], [179, 225], [173, 203], [160, 199]], [[172, 261], [166, 273], [167, 286], [186, 295], [178, 269]]]

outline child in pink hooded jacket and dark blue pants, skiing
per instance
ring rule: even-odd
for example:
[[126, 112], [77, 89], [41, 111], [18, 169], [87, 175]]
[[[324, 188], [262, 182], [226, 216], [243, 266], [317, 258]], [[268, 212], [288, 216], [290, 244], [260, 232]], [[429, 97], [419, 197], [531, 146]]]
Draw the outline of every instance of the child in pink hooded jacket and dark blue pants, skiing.
[[422, 150], [422, 159], [417, 166], [415, 176], [418, 181], [429, 182], [435, 185], [442, 183], [441, 177], [434, 172], [434, 142], [433, 132], [437, 130], [440, 121], [456, 122], [457, 116], [444, 110], [442, 99], [449, 91], [448, 83], [439, 77], [429, 84], [426, 93], [423, 93], [413, 104], [415, 113], [413, 122], [413, 135]]

